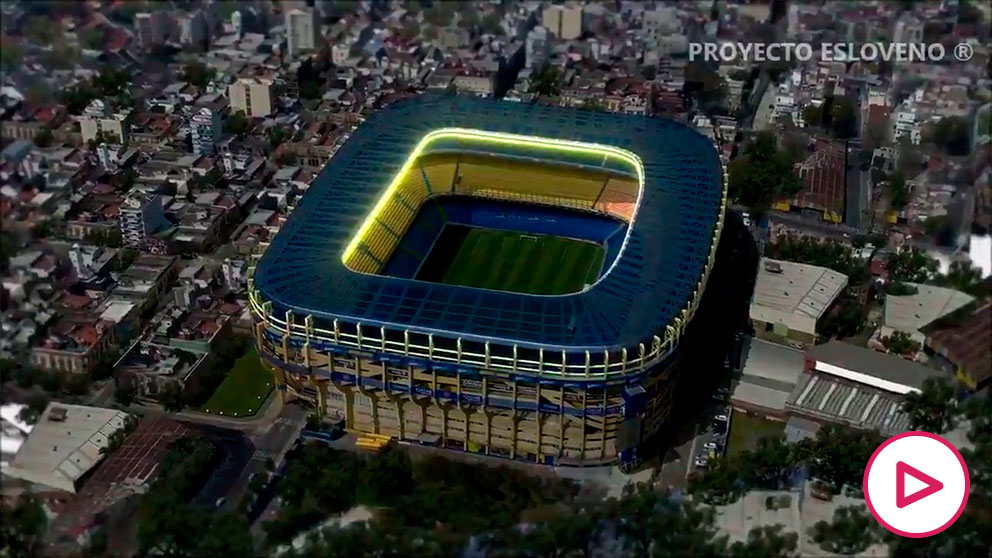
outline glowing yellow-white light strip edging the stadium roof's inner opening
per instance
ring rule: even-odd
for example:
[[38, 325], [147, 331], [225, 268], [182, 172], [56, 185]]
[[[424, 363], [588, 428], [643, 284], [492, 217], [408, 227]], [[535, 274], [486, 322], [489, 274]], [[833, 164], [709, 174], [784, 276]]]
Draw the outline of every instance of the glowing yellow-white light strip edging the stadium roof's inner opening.
[[[637, 219], [637, 211], [641, 207], [641, 197], [644, 195], [644, 164], [641, 162], [641, 158], [634, 153], [627, 151], [626, 149], [621, 149], [619, 147], [613, 147], [611, 145], [603, 145], [597, 143], [586, 143], [572, 140], [559, 140], [552, 138], [545, 138], [540, 136], [527, 136], [521, 134], [510, 134], [506, 132], [489, 132], [486, 130], [477, 130], [471, 128], [440, 128], [424, 135], [423, 138], [414, 147], [413, 152], [407, 157], [403, 166], [400, 168], [399, 172], [393, 177], [392, 182], [386, 190], [379, 196], [378, 201], [372, 208], [372, 211], [365, 216], [365, 220], [362, 222], [361, 226], [354, 236], [351, 237], [351, 241], [345, 247], [344, 252], [341, 253], [341, 263], [346, 269], [352, 273], [361, 273], [363, 275], [378, 275], [376, 273], [366, 273], [362, 271], [357, 271], [352, 269], [348, 265], [348, 259], [351, 258], [355, 250], [358, 250], [358, 246], [362, 243], [365, 235], [369, 232], [369, 229], [376, 223], [379, 215], [385, 210], [386, 205], [389, 200], [392, 199], [393, 194], [399, 189], [400, 184], [406, 177], [407, 172], [413, 166], [413, 164], [420, 157], [421, 153], [434, 141], [442, 139], [459, 139], [459, 140], [476, 140], [481, 142], [489, 142], [493, 144], [502, 145], [514, 145], [514, 146], [524, 146], [524, 147], [536, 147], [541, 149], [547, 149], [552, 151], [566, 151], [571, 153], [588, 153], [595, 155], [603, 155], [604, 157], [616, 157], [626, 163], [629, 163], [634, 167], [634, 172], [637, 174], [637, 201], [634, 203], [634, 211], [630, 216], [630, 220], [627, 222], [628, 225], [633, 225], [634, 221]], [[610, 267], [606, 269], [605, 273], [602, 273], [596, 281], [586, 285], [582, 290], [557, 294], [557, 295], [545, 295], [545, 294], [529, 294], [528, 296], [552, 296], [552, 297], [564, 297], [564, 296], [574, 296], [577, 294], [584, 293], [598, 285], [603, 279], [605, 279], [611, 271], [617, 266], [623, 257], [624, 250], [627, 248], [627, 243], [630, 241], [630, 235], [633, 232], [633, 227], [628, 226], [627, 232], [624, 234], [623, 242], [620, 244], [620, 251], [617, 252], [617, 257], [613, 258], [613, 262]], [[479, 287], [463, 287], [478, 289]], [[487, 290], [487, 289], [481, 289]]]

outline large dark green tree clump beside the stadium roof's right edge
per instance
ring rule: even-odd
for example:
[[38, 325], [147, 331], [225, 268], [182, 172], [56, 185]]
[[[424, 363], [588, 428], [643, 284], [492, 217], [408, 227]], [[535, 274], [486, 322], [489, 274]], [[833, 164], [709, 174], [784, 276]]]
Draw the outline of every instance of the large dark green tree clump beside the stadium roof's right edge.
[[779, 149], [770, 132], [760, 132], [745, 144], [729, 167], [730, 195], [751, 208], [767, 208], [774, 201], [791, 197], [802, 186], [792, 159]]

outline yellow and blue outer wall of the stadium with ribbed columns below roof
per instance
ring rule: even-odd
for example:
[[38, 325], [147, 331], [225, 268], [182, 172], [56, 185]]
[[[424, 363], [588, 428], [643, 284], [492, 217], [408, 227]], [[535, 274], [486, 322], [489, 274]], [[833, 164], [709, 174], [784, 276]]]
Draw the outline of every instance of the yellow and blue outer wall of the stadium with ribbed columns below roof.
[[259, 353], [283, 397], [306, 400], [352, 431], [536, 463], [631, 468], [671, 411], [679, 339], [702, 297], [723, 227], [725, 168], [722, 176], [695, 290], [672, 323], [644, 332], [645, 341], [634, 346], [589, 348], [583, 359], [581, 350], [435, 338], [345, 318], [318, 322], [293, 310], [274, 312], [249, 273]]

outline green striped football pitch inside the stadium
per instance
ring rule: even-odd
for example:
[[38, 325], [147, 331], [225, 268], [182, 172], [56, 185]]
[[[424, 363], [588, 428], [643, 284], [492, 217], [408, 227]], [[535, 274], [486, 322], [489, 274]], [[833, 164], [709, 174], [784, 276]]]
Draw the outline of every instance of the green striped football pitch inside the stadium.
[[593, 283], [606, 250], [584, 240], [446, 225], [417, 279], [517, 293], [557, 295]]

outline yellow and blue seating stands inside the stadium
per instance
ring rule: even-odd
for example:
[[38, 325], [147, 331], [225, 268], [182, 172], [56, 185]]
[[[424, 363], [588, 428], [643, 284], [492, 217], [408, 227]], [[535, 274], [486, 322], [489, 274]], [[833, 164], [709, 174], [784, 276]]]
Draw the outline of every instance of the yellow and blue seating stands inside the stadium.
[[[446, 204], [426, 203], [450, 194], [595, 211], [629, 222], [636, 207], [637, 184], [630, 178], [585, 166], [504, 159], [495, 153], [488, 156], [450, 151], [431, 153], [418, 158], [407, 169], [373, 225], [362, 236], [359, 249], [348, 258], [348, 267], [362, 273], [412, 277], [420, 263], [415, 264], [414, 260], [422, 261], [445, 222], [585, 240], [603, 240], [608, 234], [599, 234], [595, 227], [587, 232], [587, 226], [597, 222], [595, 219], [586, 222], [585, 217], [576, 216], [570, 220], [560, 212], [554, 217], [528, 214], [525, 222], [522, 214], [510, 215], [505, 207], [502, 213], [499, 209], [495, 213], [471, 211], [463, 200], [452, 208], [461, 212], [452, 219], [444, 214]], [[535, 219], [544, 226], [536, 227], [531, 222]], [[575, 219], [582, 224], [573, 224], [571, 221]], [[555, 225], [556, 220], [565, 223], [564, 228]], [[417, 225], [411, 230], [414, 222]], [[617, 224], [612, 223], [608, 228], [613, 232]], [[563, 230], [572, 232], [563, 233]], [[398, 251], [400, 246], [404, 250]]]

